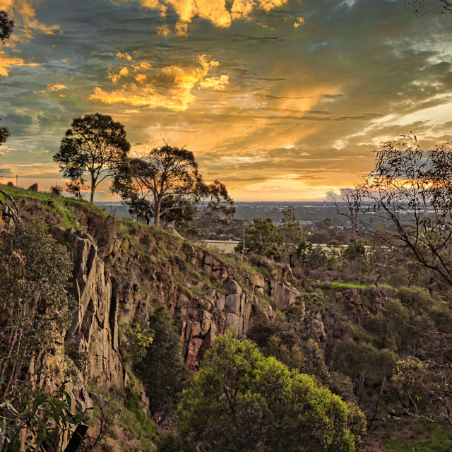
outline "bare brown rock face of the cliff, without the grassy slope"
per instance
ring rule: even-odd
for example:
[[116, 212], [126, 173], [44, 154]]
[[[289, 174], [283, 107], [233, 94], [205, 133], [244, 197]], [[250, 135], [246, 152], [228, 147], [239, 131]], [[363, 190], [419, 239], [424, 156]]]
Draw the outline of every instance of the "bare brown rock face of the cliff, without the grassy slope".
[[[174, 283], [177, 262], [153, 263], [153, 256], [155, 261], [155, 254], [161, 252], [157, 241], [150, 241], [147, 253], [140, 257], [131, 244], [121, 246], [117, 218], [96, 217], [88, 219], [88, 224], [90, 234], [53, 227], [52, 235], [71, 244], [72, 295], [80, 307], [64, 342], [79, 367], [83, 358], [85, 379], [100, 388], [126, 384], [120, 325], [137, 316], [145, 319], [153, 296], [165, 301], [177, 321], [183, 357], [193, 373], [218, 334], [227, 328], [238, 335], [247, 333], [253, 307], [258, 307], [264, 294], [276, 309], [285, 309], [297, 299], [298, 292], [281, 280], [287, 269], [277, 268], [275, 279], [250, 273], [239, 281], [234, 268], [208, 251], [174, 240], [174, 253], [204, 278], [197, 283], [198, 290], [187, 295], [194, 282], [184, 280], [184, 287]], [[268, 315], [272, 313], [269, 307]]]

